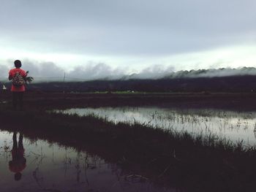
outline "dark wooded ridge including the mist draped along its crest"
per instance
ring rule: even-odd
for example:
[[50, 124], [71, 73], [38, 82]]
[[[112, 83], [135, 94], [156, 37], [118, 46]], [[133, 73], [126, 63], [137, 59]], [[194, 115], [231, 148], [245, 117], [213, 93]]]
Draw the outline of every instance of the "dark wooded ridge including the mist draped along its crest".
[[[35, 77], [37, 79], [37, 77]], [[1, 82], [10, 89], [10, 82]], [[48, 80], [28, 85], [29, 91], [50, 92], [246, 92], [256, 91], [256, 69], [201, 69], [172, 72], [161, 78], [141, 78], [140, 74], [124, 76], [116, 80]]]

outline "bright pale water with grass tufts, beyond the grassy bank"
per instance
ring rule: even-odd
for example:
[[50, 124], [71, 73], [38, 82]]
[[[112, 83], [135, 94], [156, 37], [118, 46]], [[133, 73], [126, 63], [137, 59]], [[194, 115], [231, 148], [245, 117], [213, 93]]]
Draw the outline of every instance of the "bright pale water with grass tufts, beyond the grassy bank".
[[136, 122], [174, 131], [188, 131], [192, 135], [214, 134], [217, 138], [226, 138], [232, 142], [243, 141], [245, 147], [256, 145], [256, 112], [165, 107], [99, 107], [69, 109], [62, 112], [93, 114], [114, 123]]

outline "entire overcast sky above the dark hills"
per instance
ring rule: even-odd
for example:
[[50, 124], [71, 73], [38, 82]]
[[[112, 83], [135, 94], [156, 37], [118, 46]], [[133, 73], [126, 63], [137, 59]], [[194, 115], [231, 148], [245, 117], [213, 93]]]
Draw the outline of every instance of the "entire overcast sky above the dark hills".
[[0, 2], [3, 73], [15, 59], [35, 76], [256, 66], [255, 0]]

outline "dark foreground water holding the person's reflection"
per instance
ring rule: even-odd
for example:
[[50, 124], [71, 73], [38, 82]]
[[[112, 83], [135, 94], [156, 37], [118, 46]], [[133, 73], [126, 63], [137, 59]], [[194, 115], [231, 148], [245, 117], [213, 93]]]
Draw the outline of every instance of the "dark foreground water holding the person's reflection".
[[0, 131], [0, 191], [173, 191], [97, 155]]

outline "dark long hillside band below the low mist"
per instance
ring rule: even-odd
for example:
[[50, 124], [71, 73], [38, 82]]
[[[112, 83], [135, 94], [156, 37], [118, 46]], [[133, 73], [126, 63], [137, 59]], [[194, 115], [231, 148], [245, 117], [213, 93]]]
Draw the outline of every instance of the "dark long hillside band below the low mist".
[[[10, 83], [5, 84], [10, 89]], [[163, 78], [159, 80], [93, 80], [85, 82], [40, 82], [30, 91], [45, 92], [255, 92], [256, 75], [230, 77]]]

